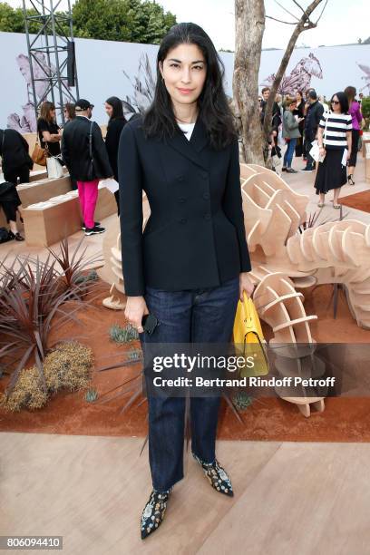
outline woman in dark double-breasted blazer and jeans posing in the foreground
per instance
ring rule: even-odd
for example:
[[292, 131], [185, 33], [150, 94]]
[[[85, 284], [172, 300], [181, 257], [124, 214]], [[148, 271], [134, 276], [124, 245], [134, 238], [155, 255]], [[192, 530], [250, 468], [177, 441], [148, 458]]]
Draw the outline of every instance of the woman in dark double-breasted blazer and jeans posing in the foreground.
[[[196, 24], [173, 26], [158, 52], [151, 108], [122, 131], [125, 316], [144, 355], [150, 344], [228, 343], [238, 300], [253, 290], [238, 140], [222, 78], [209, 36]], [[142, 233], [143, 190], [151, 217]], [[148, 314], [158, 320], [151, 334], [142, 327]], [[185, 399], [157, 392], [150, 372], [146, 386], [153, 490], [141, 538], [160, 526], [172, 486], [183, 477]], [[219, 396], [191, 396], [191, 451], [212, 487], [231, 496], [215, 455], [218, 412]]]

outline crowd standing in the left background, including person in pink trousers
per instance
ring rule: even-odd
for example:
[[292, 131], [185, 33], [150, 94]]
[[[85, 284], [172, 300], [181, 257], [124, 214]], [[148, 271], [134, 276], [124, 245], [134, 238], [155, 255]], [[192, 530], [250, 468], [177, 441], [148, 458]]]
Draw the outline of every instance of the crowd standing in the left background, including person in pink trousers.
[[[0, 129], [0, 156], [4, 174], [4, 180], [0, 183], [0, 206], [4, 209], [10, 228], [0, 234], [0, 242], [24, 240], [16, 224], [17, 211], [21, 206], [16, 187], [19, 183], [29, 182], [34, 162], [46, 165], [47, 159], [54, 159], [59, 167], [66, 166], [69, 171], [72, 188], [78, 190], [85, 235], [105, 231], [100, 222], [94, 219], [98, 185], [100, 180], [108, 178], [118, 181], [118, 145], [126, 123], [122, 101], [118, 97], [111, 96], [106, 100], [105, 112], [109, 122], [104, 141], [101, 128], [91, 120], [91, 102], [79, 99], [75, 103], [66, 103], [63, 108], [63, 128], [56, 122], [54, 103], [43, 102], [37, 120], [37, 140], [32, 157], [21, 133], [13, 129]], [[119, 215], [118, 190], [114, 195]]]

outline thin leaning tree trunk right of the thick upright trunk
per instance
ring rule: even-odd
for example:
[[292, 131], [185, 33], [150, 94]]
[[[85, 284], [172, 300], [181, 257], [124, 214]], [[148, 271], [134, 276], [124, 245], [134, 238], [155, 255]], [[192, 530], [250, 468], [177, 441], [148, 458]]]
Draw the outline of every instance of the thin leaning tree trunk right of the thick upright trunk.
[[271, 133], [272, 109], [274, 106], [275, 97], [277, 95], [277, 89], [279, 84], [281, 83], [284, 73], [286, 72], [287, 64], [289, 63], [290, 56], [292, 55], [294, 47], [296, 46], [296, 43], [297, 43], [297, 38], [299, 34], [301, 34], [303, 31], [306, 31], [307, 29], [313, 29], [314, 27], [316, 27], [316, 24], [313, 24], [310, 22], [309, 16], [316, 9], [317, 5], [319, 5], [322, 1], [323, 0], [314, 0], [313, 2], [311, 2], [311, 4], [307, 7], [304, 14], [302, 15], [299, 22], [297, 23], [293, 31], [293, 34], [290, 37], [290, 41], [287, 44], [287, 50], [285, 51], [285, 54], [281, 60], [280, 67], [278, 68], [274, 83], [271, 86], [271, 92], [269, 94], [268, 103], [266, 105], [265, 120], [263, 124], [263, 131], [264, 131], [264, 136], [266, 140], [268, 139]]

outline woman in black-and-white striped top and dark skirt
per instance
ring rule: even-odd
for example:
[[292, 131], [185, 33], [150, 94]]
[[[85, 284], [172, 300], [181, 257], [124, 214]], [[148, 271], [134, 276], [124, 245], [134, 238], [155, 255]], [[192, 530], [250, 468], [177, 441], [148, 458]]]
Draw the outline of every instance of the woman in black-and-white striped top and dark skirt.
[[[342, 185], [346, 185], [346, 162], [351, 155], [352, 117], [348, 114], [348, 100], [345, 93], [336, 93], [330, 101], [330, 112], [323, 114], [318, 125], [317, 141], [320, 156], [315, 188], [320, 195], [319, 208], [325, 205], [325, 195], [334, 189], [334, 208], [339, 209], [338, 197]], [[346, 153], [345, 153], [346, 151]]]

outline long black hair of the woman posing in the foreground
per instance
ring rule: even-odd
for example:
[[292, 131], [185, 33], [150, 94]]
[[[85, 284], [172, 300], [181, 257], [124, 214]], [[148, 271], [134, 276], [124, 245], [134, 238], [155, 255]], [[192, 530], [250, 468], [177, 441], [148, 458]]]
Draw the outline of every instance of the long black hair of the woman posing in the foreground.
[[206, 127], [210, 145], [216, 150], [221, 150], [236, 137], [232, 113], [222, 83], [225, 68], [209, 35], [199, 25], [192, 23], [174, 25], [161, 41], [157, 54], [154, 99], [143, 120], [145, 135], [163, 139], [173, 137], [176, 132], [182, 132], [176, 122], [170, 94], [161, 78], [159, 68], [160, 62], [163, 63], [170, 50], [179, 44], [196, 44], [204, 55], [207, 76], [198, 98], [198, 117]]

